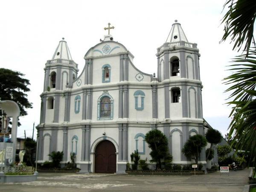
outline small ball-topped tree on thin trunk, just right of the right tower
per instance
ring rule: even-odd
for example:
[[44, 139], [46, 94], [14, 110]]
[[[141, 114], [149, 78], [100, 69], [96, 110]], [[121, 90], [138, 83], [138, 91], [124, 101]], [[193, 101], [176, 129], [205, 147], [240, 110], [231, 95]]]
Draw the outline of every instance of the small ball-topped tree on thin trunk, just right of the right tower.
[[205, 134], [205, 138], [207, 139], [207, 142], [210, 143], [210, 148], [207, 151], [207, 157], [206, 160], [209, 160], [209, 155], [211, 154], [212, 145], [216, 145], [218, 143], [221, 143], [222, 135], [221, 132], [217, 129], [208, 129], [207, 133]]

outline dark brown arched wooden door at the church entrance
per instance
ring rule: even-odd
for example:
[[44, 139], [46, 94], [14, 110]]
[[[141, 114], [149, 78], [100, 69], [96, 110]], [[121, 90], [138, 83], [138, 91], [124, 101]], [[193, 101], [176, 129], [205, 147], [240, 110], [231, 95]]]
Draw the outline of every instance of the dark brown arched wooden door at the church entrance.
[[104, 140], [97, 145], [95, 150], [95, 172], [116, 172], [116, 148], [111, 141]]

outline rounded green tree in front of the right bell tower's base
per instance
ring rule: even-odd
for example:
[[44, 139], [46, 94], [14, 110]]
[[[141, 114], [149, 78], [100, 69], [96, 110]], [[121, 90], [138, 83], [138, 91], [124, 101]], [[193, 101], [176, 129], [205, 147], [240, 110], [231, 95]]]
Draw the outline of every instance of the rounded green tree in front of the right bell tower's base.
[[191, 159], [195, 160], [195, 163], [198, 164], [202, 148], [206, 145], [206, 138], [202, 135], [196, 134], [189, 137], [182, 149], [182, 152], [186, 157], [191, 157]]

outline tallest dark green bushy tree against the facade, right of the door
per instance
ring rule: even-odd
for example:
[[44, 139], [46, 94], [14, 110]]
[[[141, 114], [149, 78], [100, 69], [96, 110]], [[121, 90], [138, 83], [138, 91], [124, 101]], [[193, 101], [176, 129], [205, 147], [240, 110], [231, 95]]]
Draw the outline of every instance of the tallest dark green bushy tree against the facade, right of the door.
[[156, 169], [162, 168], [161, 160], [163, 160], [164, 164], [172, 162], [172, 156], [169, 154], [168, 139], [162, 131], [157, 129], [148, 131], [145, 135], [145, 141], [152, 150], [150, 152], [150, 156], [152, 157], [150, 162], [157, 163]]

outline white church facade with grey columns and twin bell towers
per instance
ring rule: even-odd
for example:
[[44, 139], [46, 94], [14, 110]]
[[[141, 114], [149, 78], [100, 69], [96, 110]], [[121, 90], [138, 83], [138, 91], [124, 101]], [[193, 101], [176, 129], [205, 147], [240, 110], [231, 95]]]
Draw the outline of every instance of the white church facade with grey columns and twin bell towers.
[[[60, 41], [44, 68], [38, 163], [63, 151], [64, 165], [75, 152], [81, 172], [125, 173], [134, 150], [151, 159], [144, 139], [152, 129], [168, 138], [173, 163], [192, 163], [181, 149], [190, 135], [206, 130], [199, 50], [175, 21], [156, 55], [157, 77], [138, 70], [131, 52], [105, 35], [84, 55], [78, 75], [67, 42]], [[205, 148], [200, 161], [206, 164]]]

